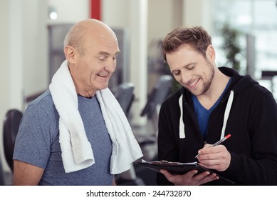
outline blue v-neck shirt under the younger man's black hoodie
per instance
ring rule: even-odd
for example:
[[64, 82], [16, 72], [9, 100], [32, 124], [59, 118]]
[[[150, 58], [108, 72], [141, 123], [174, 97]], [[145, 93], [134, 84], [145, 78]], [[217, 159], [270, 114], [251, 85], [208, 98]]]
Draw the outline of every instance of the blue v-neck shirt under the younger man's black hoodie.
[[219, 96], [219, 99], [217, 99], [216, 103], [213, 106], [211, 106], [211, 108], [209, 110], [205, 109], [204, 106], [202, 106], [202, 104], [200, 104], [200, 102], [197, 99], [197, 96], [192, 95], [194, 111], [195, 111], [195, 114], [197, 115], [199, 129], [200, 129], [200, 132], [202, 133], [202, 136], [204, 137], [205, 141], [207, 139], [207, 132], [209, 129], [209, 117], [211, 116], [211, 112], [219, 104], [219, 101], [221, 100], [222, 96], [224, 95], [224, 93], [225, 93], [226, 89], [228, 88], [228, 86], [230, 85], [230, 83], [231, 83], [231, 79], [228, 81], [228, 84], [226, 85], [221, 96]]

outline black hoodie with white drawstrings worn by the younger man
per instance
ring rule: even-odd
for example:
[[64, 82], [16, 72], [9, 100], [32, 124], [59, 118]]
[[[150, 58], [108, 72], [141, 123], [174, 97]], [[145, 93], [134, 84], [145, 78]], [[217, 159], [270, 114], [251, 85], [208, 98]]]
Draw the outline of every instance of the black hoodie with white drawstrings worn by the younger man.
[[[231, 154], [231, 163], [226, 171], [216, 173], [237, 185], [277, 185], [277, 105], [273, 95], [251, 76], [240, 76], [226, 67], [219, 70], [232, 81], [211, 113], [206, 142], [214, 144], [231, 134], [222, 143]], [[226, 106], [228, 101], [230, 106]], [[197, 161], [194, 156], [205, 141], [187, 89], [180, 89], [164, 101], [158, 126], [159, 160]], [[171, 183], [157, 174], [157, 184]], [[219, 179], [208, 184], [226, 182]]]

